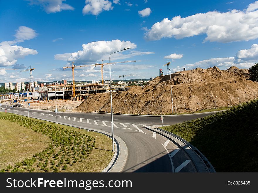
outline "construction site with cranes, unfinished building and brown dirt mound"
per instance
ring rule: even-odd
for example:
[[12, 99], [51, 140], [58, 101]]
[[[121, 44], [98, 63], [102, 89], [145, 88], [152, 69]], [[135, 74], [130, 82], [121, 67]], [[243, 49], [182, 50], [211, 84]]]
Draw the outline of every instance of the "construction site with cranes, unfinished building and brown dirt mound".
[[[127, 63], [135, 61], [115, 62]], [[113, 64], [115, 64], [113, 63]], [[248, 79], [248, 70], [230, 67], [220, 70], [214, 66], [208, 69], [196, 68], [171, 73], [169, 64], [167, 75], [159, 69], [159, 76], [147, 82], [145, 86], [128, 86], [125, 82], [104, 81], [103, 66], [109, 63], [63, 67], [72, 68], [72, 84], [60, 80], [51, 84], [39, 84], [32, 81], [30, 66], [24, 71], [30, 72], [30, 83], [26, 95], [18, 94], [20, 106], [74, 112], [111, 112], [110, 90], [113, 92], [113, 112], [125, 114], [175, 114], [204, 109], [238, 105], [258, 97], [258, 83]], [[101, 65], [102, 80], [93, 83], [75, 84], [74, 68]], [[134, 75], [134, 74], [132, 74]], [[124, 77], [127, 75], [120, 75]], [[152, 79], [152, 78], [151, 78]], [[61, 83], [63, 81], [63, 83]], [[60, 83], [59, 83], [60, 82]], [[23, 93], [25, 94], [25, 93]], [[12, 99], [2, 96], [1, 99]], [[26, 100], [27, 98], [27, 100]]]

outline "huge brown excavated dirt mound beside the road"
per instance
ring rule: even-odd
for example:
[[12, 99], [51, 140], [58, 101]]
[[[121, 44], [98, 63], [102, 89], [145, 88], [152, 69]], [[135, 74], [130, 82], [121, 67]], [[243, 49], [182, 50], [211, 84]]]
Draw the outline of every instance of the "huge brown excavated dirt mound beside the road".
[[[247, 80], [246, 69], [196, 68], [171, 75], [174, 113], [231, 106], [254, 99], [258, 84]], [[248, 71], [247, 71], [248, 72]], [[172, 111], [170, 75], [156, 77], [150, 85], [112, 93], [114, 113], [167, 114]], [[110, 93], [88, 97], [79, 112], [111, 112]]]

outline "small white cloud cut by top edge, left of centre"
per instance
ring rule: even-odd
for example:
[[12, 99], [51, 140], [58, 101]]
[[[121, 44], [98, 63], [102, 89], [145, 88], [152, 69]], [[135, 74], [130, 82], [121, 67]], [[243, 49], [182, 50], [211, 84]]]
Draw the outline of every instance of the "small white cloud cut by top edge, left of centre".
[[85, 0], [85, 6], [82, 10], [83, 15], [99, 15], [102, 11], [113, 9], [112, 3], [107, 0]]

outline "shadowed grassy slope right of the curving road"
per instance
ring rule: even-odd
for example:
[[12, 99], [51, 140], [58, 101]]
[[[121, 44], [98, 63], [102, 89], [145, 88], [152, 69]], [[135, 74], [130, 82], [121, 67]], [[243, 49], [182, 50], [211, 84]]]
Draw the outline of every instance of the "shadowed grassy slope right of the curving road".
[[258, 172], [258, 101], [161, 127], [190, 142], [216, 172]]

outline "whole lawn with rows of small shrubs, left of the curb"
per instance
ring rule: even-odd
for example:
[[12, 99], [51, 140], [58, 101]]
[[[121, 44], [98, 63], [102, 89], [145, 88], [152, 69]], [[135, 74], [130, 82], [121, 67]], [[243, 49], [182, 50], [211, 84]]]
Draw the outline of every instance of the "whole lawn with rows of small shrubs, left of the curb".
[[101, 172], [113, 157], [112, 140], [96, 132], [11, 113], [0, 122], [1, 172]]

